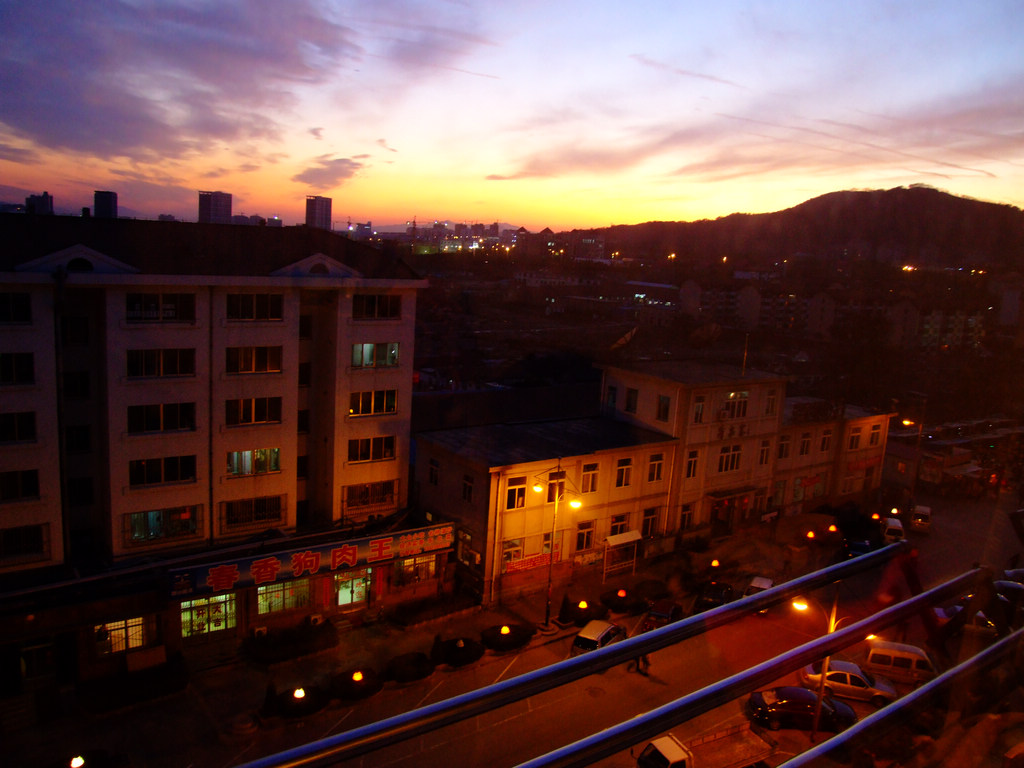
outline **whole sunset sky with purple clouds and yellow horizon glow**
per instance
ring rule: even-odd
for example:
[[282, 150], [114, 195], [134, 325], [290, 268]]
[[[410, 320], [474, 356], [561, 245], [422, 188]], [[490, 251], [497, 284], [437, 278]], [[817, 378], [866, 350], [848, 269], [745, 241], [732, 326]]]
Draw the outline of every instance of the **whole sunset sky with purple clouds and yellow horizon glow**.
[[0, 0], [0, 201], [539, 230], [1024, 207], [1021, 0]]

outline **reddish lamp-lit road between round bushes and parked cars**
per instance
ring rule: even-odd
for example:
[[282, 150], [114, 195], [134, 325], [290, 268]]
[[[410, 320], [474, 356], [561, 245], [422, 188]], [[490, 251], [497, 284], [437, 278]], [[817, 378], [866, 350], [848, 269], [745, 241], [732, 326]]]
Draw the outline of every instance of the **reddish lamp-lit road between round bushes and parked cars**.
[[[920, 574], [924, 587], [927, 589], [945, 582], [970, 569], [975, 563], [995, 569], [1006, 567], [1010, 558], [1022, 549], [1006, 516], [1014, 509], [1015, 501], [1011, 495], [1004, 495], [998, 500], [966, 502], [922, 499], [921, 503], [929, 504], [934, 510], [932, 529], [927, 534], [911, 531], [908, 538], [920, 553]], [[863, 581], [870, 589], [870, 585], [878, 585], [880, 578], [871, 574]], [[902, 596], [906, 597], [906, 586], [901, 586]], [[860, 617], [874, 597], [871, 594], [850, 594], [849, 589], [844, 589], [841, 595], [847, 600], [841, 611], [844, 615], [852, 611], [851, 618]], [[914, 625], [920, 623], [912, 623], [903, 639], [924, 644], [923, 627]], [[651, 654], [648, 678], [623, 667], [614, 668], [534, 696], [515, 707], [490, 713], [487, 717], [477, 718], [475, 722], [440, 729], [429, 738], [397, 744], [384, 754], [373, 755], [372, 760], [345, 765], [515, 766], [770, 658], [824, 630], [823, 611], [820, 616], [795, 616], [786, 606], [778, 606], [765, 615], [743, 618]], [[517, 658], [514, 666], [519, 667], [521, 663], [518, 670], [521, 672], [532, 665], [544, 664], [544, 656], [549, 655], [549, 650], [545, 648], [540, 656], [535, 655], [537, 651], [528, 651], [524, 654], [528, 658]], [[567, 645], [563, 650], [567, 653]], [[975, 652], [977, 648], [964, 650]], [[863, 646], [853, 646], [848, 649], [847, 655], [856, 659], [863, 651]], [[776, 684], [796, 682], [796, 674], [792, 674]], [[906, 692], [908, 689], [903, 690]], [[438, 694], [430, 697], [430, 700], [436, 700], [441, 691], [433, 691], [432, 694]], [[737, 700], [718, 708], [680, 726], [677, 733], [684, 738], [692, 738], [741, 722], [745, 718], [742, 703], [742, 700]], [[858, 717], [863, 718], [874, 712], [869, 703], [850, 703]], [[778, 743], [772, 764], [781, 763], [811, 745], [808, 734], [800, 731], [782, 730], [771, 734], [771, 737]], [[820, 741], [821, 736], [817, 740]], [[634, 765], [634, 761], [629, 753], [622, 753], [597, 765], [626, 768]]]

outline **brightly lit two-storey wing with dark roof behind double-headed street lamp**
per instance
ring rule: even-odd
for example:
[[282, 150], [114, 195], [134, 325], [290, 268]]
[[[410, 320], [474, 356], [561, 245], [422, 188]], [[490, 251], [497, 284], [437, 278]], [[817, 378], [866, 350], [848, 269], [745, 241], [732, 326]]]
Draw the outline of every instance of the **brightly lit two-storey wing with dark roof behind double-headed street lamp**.
[[417, 503], [455, 522], [459, 586], [493, 602], [665, 534], [676, 442], [602, 418], [420, 432]]

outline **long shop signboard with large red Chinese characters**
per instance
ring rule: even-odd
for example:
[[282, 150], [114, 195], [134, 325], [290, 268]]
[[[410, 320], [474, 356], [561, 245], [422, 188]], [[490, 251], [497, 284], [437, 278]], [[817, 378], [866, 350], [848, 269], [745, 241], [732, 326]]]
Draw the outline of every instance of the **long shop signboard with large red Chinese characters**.
[[269, 584], [279, 578], [314, 575], [325, 568], [333, 571], [381, 563], [447, 549], [454, 538], [455, 530], [451, 524], [433, 525], [343, 544], [325, 544], [280, 555], [184, 568], [171, 574], [171, 591], [174, 595], [225, 592], [237, 587]]

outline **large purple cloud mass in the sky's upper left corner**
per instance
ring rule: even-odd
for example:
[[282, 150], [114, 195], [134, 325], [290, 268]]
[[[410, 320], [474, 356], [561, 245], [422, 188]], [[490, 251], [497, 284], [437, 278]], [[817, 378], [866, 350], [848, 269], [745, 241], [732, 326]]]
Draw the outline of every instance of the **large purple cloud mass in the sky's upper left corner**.
[[41, 146], [143, 162], [279, 137], [261, 111], [360, 55], [326, 14], [313, 0], [284, 13], [268, 0], [7, 5], [0, 124]]

